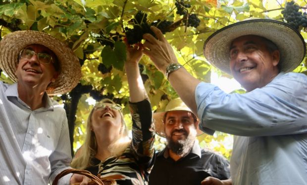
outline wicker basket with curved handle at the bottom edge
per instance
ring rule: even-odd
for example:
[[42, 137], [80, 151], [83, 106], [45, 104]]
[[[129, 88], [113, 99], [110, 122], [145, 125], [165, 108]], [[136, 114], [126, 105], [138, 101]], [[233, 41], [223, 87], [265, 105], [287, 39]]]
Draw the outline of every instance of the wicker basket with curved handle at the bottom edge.
[[[67, 169], [67, 170], [63, 170], [61, 173], [59, 173], [55, 178], [54, 181], [52, 182], [52, 185], [57, 185], [57, 182], [60, 178], [62, 178], [63, 176], [67, 175], [67, 174], [80, 174], [80, 175], [84, 175], [88, 178], [90, 178], [92, 181], [88, 183], [88, 185], [116, 185], [116, 181], [114, 179], [105, 179], [102, 178], [100, 179], [99, 177], [97, 177], [96, 175], [91, 174], [91, 172], [87, 171], [87, 170], [78, 170], [78, 169]], [[73, 185], [79, 185], [80, 183], [75, 183]]]

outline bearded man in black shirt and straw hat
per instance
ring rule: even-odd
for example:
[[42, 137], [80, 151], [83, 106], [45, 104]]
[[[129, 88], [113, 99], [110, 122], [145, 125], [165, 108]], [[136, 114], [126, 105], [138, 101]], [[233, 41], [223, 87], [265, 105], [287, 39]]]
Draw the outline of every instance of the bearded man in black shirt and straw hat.
[[206, 177], [229, 178], [229, 162], [200, 148], [199, 120], [180, 98], [171, 100], [153, 118], [156, 133], [166, 138], [167, 146], [156, 153], [149, 185], [200, 185]]

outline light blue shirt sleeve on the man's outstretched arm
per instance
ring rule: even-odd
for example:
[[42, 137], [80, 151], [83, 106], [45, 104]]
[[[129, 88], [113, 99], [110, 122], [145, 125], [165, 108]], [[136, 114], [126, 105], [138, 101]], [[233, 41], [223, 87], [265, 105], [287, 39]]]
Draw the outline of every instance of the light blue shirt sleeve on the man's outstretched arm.
[[295, 73], [279, 74], [246, 94], [227, 94], [200, 83], [195, 92], [200, 128], [241, 136], [306, 133], [306, 84], [306, 75]]

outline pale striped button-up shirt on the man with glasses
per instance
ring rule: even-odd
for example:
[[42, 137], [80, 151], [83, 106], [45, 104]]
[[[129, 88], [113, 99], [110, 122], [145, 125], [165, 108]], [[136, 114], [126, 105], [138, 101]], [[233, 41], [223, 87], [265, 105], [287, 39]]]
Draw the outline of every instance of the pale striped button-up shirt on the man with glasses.
[[[65, 110], [45, 93], [32, 111], [0, 81], [0, 185], [47, 185], [71, 161]], [[68, 184], [70, 176], [62, 183]]]

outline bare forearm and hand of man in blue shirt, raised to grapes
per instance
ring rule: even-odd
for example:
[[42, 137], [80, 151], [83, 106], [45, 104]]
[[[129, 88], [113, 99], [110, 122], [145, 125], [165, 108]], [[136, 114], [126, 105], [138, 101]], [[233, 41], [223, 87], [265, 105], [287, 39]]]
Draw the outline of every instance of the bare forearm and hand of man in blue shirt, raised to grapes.
[[[143, 38], [146, 39], [146, 42], [144, 43], [145, 49], [143, 52], [151, 58], [156, 68], [165, 74], [169, 64], [179, 63], [171, 45], [167, 42], [161, 31], [155, 27], [152, 27], [152, 31], [157, 39], [150, 34], [145, 34]], [[182, 101], [197, 115], [194, 95], [195, 88], [201, 81], [189, 74], [184, 68], [169, 74], [168, 80]]]

